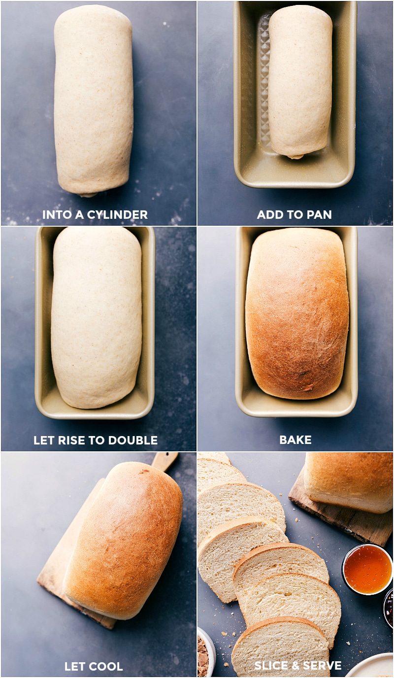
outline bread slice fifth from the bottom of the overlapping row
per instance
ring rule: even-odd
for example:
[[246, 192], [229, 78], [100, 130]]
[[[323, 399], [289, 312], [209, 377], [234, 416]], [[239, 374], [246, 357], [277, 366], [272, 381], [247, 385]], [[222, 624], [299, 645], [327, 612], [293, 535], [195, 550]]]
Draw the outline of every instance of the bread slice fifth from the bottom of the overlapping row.
[[285, 513], [281, 502], [274, 494], [253, 483], [222, 483], [211, 485], [199, 494], [197, 545], [201, 544], [217, 525], [244, 515], [260, 515], [271, 520], [285, 532]]

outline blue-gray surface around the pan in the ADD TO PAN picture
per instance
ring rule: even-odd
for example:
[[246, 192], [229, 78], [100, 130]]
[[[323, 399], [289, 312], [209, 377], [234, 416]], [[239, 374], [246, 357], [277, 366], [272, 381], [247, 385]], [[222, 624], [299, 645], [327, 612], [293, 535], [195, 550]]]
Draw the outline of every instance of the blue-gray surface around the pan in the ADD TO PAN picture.
[[[355, 173], [326, 190], [250, 188], [233, 166], [233, 3], [198, 5], [198, 223], [261, 224], [260, 210], [332, 210], [314, 225], [392, 224], [392, 24], [390, 2], [358, 3]], [[311, 224], [304, 217], [296, 225]]]

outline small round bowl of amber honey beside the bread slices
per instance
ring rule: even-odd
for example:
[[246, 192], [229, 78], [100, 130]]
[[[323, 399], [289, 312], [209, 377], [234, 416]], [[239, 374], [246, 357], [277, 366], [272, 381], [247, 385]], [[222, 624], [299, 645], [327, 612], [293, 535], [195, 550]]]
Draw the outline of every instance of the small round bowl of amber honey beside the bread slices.
[[376, 595], [385, 591], [393, 579], [393, 561], [381, 546], [359, 544], [345, 555], [342, 578], [351, 591]]

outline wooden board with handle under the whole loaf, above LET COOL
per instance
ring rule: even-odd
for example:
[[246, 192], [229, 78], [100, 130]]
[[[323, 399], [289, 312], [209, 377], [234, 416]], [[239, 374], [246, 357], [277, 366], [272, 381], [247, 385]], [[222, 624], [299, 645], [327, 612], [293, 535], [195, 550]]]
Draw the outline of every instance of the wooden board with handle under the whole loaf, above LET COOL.
[[[157, 452], [152, 462], [152, 466], [159, 468], [160, 471], [166, 471], [168, 466], [172, 464], [177, 456], [178, 452]], [[113, 619], [112, 617], [106, 617], [104, 614], [92, 612], [92, 610], [87, 610], [86, 607], [81, 607], [81, 605], [74, 603], [63, 593], [64, 574], [66, 574], [71, 553], [74, 551], [79, 530], [81, 530], [81, 525], [85, 520], [90, 506], [92, 506], [96, 498], [98, 490], [100, 490], [102, 483], [104, 483], [104, 480], [105, 478], [102, 478], [94, 486], [92, 492], [87, 497], [87, 500], [83, 506], [81, 506], [81, 509], [79, 509], [73, 522], [67, 528], [66, 532], [64, 532], [60, 542], [55, 547], [54, 551], [52, 551], [50, 557], [47, 559], [43, 569], [37, 577], [37, 582], [40, 584], [40, 586], [43, 586], [43, 589], [46, 589], [53, 595], [56, 595], [58, 598], [64, 600], [64, 603], [67, 603], [67, 605], [75, 607], [75, 610], [82, 612], [82, 614], [86, 614], [88, 617], [94, 619], [95, 622], [98, 622], [98, 624], [105, 626], [106, 629], [113, 629], [117, 621], [116, 619]]]

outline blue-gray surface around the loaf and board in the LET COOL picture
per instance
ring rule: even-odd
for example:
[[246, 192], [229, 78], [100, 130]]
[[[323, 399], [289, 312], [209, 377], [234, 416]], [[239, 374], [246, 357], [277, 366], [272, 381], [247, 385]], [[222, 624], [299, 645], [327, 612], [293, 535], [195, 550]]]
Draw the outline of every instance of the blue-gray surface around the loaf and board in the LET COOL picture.
[[[141, 612], [109, 631], [51, 595], [36, 578], [96, 482], [144, 453], [2, 454], [3, 676], [195, 676], [195, 454], [168, 474], [183, 494], [180, 532], [168, 565]], [[89, 671], [119, 662], [123, 671]], [[75, 675], [75, 674], [73, 674]]]

